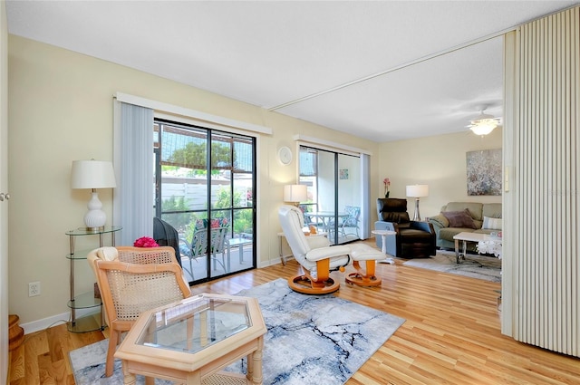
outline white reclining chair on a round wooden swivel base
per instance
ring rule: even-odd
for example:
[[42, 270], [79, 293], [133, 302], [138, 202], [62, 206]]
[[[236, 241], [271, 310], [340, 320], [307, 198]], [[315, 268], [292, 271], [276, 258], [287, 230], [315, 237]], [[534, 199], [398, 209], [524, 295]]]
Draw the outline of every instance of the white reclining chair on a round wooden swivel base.
[[278, 218], [292, 254], [304, 271], [304, 274], [288, 278], [290, 288], [303, 294], [336, 292], [340, 283], [330, 277], [330, 272], [344, 271], [344, 266], [351, 261], [351, 248], [345, 245], [331, 246], [324, 236], [304, 236], [304, 216], [298, 207], [280, 207]]

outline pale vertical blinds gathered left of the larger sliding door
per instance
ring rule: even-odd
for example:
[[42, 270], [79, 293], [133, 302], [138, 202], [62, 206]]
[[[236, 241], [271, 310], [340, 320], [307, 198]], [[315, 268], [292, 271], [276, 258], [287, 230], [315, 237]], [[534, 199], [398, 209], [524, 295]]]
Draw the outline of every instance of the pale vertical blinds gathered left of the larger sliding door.
[[113, 220], [123, 227], [117, 245], [132, 245], [153, 236], [153, 110], [115, 100], [114, 116]]

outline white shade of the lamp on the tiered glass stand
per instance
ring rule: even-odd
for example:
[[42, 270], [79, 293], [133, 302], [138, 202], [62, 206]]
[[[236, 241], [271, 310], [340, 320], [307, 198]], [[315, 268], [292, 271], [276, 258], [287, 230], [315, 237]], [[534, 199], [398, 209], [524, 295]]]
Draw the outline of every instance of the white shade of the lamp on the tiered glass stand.
[[112, 163], [102, 160], [73, 160], [71, 188], [116, 188]]

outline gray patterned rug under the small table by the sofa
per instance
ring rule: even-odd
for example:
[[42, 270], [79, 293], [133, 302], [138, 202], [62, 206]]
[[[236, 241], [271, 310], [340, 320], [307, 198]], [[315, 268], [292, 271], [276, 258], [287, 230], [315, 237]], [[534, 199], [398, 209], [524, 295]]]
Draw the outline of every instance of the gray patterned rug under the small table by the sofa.
[[468, 254], [458, 265], [455, 252], [438, 250], [435, 256], [411, 259], [402, 265], [501, 282], [501, 259], [494, 256]]

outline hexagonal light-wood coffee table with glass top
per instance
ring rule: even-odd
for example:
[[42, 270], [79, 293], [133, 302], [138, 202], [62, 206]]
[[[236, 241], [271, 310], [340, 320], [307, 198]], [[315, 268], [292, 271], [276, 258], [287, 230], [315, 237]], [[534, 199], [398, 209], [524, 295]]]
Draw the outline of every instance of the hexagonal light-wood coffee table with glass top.
[[[187, 384], [261, 384], [266, 325], [256, 298], [199, 294], [144, 312], [121, 342], [125, 384], [135, 374]], [[247, 375], [221, 371], [247, 358]]]

